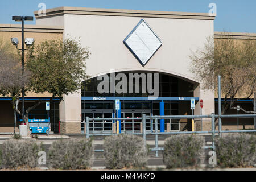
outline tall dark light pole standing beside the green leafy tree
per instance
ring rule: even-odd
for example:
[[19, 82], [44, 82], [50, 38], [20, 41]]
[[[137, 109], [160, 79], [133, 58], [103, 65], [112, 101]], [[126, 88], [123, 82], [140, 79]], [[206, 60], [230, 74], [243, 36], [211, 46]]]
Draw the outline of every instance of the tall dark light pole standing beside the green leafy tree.
[[[22, 22], [22, 78], [24, 75], [24, 21], [32, 21], [32, 16], [13, 16], [12, 19], [15, 22]], [[14, 44], [14, 43], [13, 43]], [[18, 43], [16, 44], [16, 46]], [[24, 90], [24, 79], [22, 79], [22, 123], [25, 123], [25, 100], [24, 100], [25, 90]]]

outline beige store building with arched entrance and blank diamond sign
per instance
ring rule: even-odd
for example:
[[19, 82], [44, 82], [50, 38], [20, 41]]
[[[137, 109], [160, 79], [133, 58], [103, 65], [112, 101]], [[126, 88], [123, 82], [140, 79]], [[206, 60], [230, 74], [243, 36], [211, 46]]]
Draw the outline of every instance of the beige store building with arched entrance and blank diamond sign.
[[[35, 27], [54, 29], [63, 38], [80, 39], [81, 46], [89, 47], [91, 53], [86, 61], [90, 80], [55, 106], [61, 133], [83, 133], [81, 121], [86, 116], [110, 118], [117, 117], [118, 112], [125, 118], [191, 115], [191, 98], [196, 101], [193, 114], [200, 114], [201, 99], [201, 114], [214, 113], [216, 93], [200, 89], [200, 81], [189, 71], [191, 52], [203, 47], [208, 36], [214, 36], [214, 17], [208, 13], [57, 7], [46, 10], [46, 15], [34, 14]], [[47, 98], [45, 94], [33, 97]], [[121, 102], [118, 112], [117, 99]], [[6, 103], [1, 101], [0, 106], [6, 107]], [[140, 122], [122, 122], [122, 132], [139, 132]], [[191, 130], [191, 119], [164, 122], [163, 130]], [[56, 128], [54, 131], [59, 132]], [[210, 128], [210, 119], [203, 119], [203, 130]], [[152, 129], [152, 121], [147, 121], [146, 130]], [[196, 130], [200, 129], [197, 121]], [[112, 121], [90, 123], [92, 132], [112, 130]]]

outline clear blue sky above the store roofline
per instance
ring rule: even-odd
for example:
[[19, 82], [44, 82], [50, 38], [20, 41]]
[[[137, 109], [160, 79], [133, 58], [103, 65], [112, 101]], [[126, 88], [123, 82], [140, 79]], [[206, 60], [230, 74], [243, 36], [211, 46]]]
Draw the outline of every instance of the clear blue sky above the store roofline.
[[[208, 13], [209, 3], [216, 3], [214, 31], [256, 33], [255, 0], [0, 0], [0, 23], [18, 23], [11, 20], [14, 15], [34, 16], [39, 3], [45, 3], [46, 9], [73, 6], [201, 13]], [[26, 24], [35, 24], [35, 20]]]

